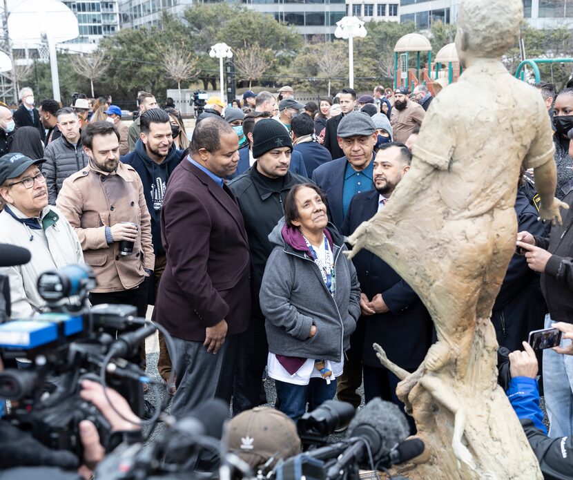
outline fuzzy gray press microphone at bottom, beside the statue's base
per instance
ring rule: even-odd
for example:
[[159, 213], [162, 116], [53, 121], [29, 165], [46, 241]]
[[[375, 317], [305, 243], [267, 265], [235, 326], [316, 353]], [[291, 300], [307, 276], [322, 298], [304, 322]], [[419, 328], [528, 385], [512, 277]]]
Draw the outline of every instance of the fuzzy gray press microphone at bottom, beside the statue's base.
[[369, 401], [351, 421], [347, 437], [353, 444], [329, 468], [327, 480], [343, 477], [344, 470], [356, 463], [368, 468], [369, 450], [374, 463], [378, 463], [397, 443], [406, 439], [409, 432], [406, 416], [398, 405], [379, 398]]

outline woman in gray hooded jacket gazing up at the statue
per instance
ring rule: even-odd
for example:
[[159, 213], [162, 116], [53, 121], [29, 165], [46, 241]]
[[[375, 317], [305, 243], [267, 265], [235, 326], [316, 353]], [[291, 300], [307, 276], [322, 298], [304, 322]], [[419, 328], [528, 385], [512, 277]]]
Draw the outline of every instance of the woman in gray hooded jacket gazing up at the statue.
[[269, 342], [267, 367], [277, 407], [294, 421], [336, 394], [344, 352], [360, 316], [356, 270], [343, 238], [328, 223], [324, 193], [293, 186], [284, 219], [269, 235], [260, 305]]

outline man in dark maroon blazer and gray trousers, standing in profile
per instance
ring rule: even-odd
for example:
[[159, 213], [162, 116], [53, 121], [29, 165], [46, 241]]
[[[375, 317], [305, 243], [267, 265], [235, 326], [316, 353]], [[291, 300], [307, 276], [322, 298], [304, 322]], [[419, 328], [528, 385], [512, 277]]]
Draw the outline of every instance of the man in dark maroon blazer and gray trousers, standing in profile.
[[163, 200], [167, 265], [153, 320], [175, 344], [169, 352], [177, 372], [175, 416], [214, 397], [230, 402], [236, 336], [249, 326], [249, 242], [235, 195], [223, 180], [237, 168], [238, 148], [237, 134], [224, 119], [204, 119]]

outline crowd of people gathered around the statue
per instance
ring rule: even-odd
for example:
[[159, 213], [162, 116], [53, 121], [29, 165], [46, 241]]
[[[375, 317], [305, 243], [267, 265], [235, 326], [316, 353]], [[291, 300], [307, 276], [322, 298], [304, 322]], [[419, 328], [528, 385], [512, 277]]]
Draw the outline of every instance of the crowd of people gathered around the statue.
[[[555, 196], [573, 207], [573, 88], [536, 88], [554, 131]], [[46, 308], [41, 273], [85, 262], [97, 278], [92, 305], [133, 305], [139, 316], [154, 305], [152, 320], [173, 336], [168, 351], [159, 335], [157, 368], [166, 383], [175, 378], [175, 416], [215, 397], [233, 415], [264, 404], [266, 376], [275, 407], [295, 421], [335, 397], [356, 409], [375, 398], [403, 407], [372, 344], [414, 372], [436, 340], [431, 317], [373, 253], [348, 260], [345, 240], [392, 201], [433, 97], [424, 85], [376, 86], [302, 104], [290, 86], [278, 97], [247, 90], [229, 106], [210, 97], [188, 133], [152, 93], [139, 93], [128, 125], [110, 97], [64, 107], [44, 99], [37, 109], [22, 88], [17, 111], [0, 106], [0, 242], [32, 253], [0, 269], [12, 316]], [[543, 351], [542, 378], [549, 434], [571, 437], [573, 210], [562, 226], [538, 222], [535, 179], [520, 176], [517, 251], [492, 323], [499, 345], [516, 352], [512, 376], [533, 378], [524, 382], [537, 402], [531, 365], [541, 356], [519, 351], [532, 330], [566, 332], [561, 348]], [[541, 410], [516, 412], [545, 433]]]

